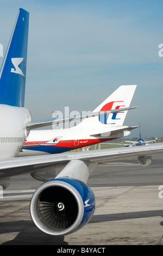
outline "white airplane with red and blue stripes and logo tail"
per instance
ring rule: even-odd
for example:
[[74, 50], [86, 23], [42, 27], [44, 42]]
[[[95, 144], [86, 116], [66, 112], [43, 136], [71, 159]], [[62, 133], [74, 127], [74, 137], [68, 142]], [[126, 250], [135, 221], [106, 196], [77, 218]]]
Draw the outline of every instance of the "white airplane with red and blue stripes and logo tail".
[[[129, 107], [135, 89], [136, 86], [120, 86], [92, 113]], [[138, 126], [123, 126], [126, 114], [127, 111], [84, 119], [68, 129], [30, 131], [18, 156], [62, 153], [128, 136]]]

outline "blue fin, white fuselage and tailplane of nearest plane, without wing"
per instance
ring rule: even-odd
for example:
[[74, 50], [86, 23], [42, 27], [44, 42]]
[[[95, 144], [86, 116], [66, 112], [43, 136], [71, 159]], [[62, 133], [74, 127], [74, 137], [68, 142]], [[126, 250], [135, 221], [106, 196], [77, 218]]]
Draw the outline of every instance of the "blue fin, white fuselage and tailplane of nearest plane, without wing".
[[[61, 118], [57, 121], [56, 118], [32, 121], [29, 109], [24, 107], [28, 23], [29, 13], [20, 8], [0, 71], [0, 159], [16, 157], [32, 129], [52, 125], [58, 121], [67, 122], [92, 117], [92, 114], [87, 114], [75, 118]], [[111, 112], [117, 111], [114, 109]], [[101, 113], [93, 113], [93, 116], [99, 116]], [[109, 112], [103, 111], [104, 113]]]

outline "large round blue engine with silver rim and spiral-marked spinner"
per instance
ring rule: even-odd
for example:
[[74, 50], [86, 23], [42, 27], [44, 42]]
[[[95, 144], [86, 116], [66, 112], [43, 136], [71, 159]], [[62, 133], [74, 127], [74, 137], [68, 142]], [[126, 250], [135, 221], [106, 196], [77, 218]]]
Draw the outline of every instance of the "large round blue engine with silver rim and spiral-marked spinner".
[[95, 196], [83, 182], [58, 178], [43, 183], [30, 202], [35, 225], [50, 235], [67, 235], [82, 228], [95, 212]]

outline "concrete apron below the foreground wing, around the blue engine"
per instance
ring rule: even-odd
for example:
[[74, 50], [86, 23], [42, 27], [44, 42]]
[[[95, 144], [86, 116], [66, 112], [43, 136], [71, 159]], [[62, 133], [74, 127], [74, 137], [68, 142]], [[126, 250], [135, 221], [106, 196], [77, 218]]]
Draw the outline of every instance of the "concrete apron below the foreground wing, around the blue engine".
[[0, 245], [163, 245], [162, 155], [148, 167], [135, 159], [99, 163], [87, 182], [95, 214], [67, 236], [42, 233], [31, 220], [30, 198], [40, 184], [30, 175], [12, 178], [0, 198]]

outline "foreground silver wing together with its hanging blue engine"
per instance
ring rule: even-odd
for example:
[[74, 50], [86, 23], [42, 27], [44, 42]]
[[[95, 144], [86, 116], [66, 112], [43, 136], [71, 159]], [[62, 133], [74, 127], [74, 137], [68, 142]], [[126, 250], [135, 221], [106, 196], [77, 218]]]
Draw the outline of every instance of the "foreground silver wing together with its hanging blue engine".
[[[47, 181], [30, 200], [30, 216], [44, 233], [67, 235], [84, 227], [95, 212], [95, 195], [86, 181], [98, 162], [137, 157], [140, 164], [146, 165], [154, 154], [163, 154], [163, 143], [4, 159], [0, 160], [0, 181], [7, 184], [10, 176], [26, 173]], [[64, 169], [57, 174], [57, 167]]]

